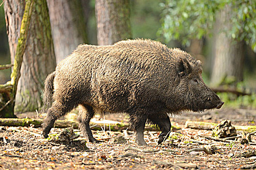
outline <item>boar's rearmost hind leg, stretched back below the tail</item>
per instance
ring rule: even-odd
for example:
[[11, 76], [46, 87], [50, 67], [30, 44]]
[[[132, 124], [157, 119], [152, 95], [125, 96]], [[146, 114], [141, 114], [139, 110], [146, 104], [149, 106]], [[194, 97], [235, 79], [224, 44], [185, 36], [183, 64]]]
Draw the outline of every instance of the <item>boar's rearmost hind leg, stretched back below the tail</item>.
[[59, 119], [59, 117], [64, 116], [65, 114], [70, 112], [74, 107], [75, 106], [73, 103], [62, 104], [61, 102], [58, 102], [58, 101], [53, 102], [53, 105], [48, 110], [47, 117], [44, 119], [42, 124], [42, 136], [44, 136], [44, 138], [47, 138], [55, 120]]

